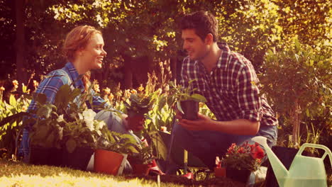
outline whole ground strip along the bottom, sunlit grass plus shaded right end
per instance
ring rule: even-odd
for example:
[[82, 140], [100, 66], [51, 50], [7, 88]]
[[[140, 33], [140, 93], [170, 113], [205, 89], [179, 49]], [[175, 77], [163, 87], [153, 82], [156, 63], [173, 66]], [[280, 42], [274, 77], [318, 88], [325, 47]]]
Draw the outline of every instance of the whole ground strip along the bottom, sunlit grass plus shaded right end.
[[[243, 183], [226, 178], [194, 181], [182, 176], [111, 176], [56, 166], [37, 166], [0, 158], [0, 186], [226, 186]], [[182, 185], [176, 184], [181, 183]]]

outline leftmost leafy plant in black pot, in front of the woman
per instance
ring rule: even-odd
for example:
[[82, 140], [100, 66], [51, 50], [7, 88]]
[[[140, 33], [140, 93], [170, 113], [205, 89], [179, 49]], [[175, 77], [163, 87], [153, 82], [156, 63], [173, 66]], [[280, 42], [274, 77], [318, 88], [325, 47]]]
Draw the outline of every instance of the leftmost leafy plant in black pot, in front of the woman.
[[23, 120], [23, 126], [33, 124], [25, 162], [61, 166], [63, 126], [58, 121], [57, 107], [46, 102], [45, 94], [35, 94], [34, 99], [38, 108], [26, 113], [30, 118]]

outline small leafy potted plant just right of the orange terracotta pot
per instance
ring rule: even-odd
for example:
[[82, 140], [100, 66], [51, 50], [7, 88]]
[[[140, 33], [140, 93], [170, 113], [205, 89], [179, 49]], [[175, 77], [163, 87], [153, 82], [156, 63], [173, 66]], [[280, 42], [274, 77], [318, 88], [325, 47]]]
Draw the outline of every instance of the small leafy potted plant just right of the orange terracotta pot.
[[148, 175], [150, 167], [155, 157], [153, 157], [153, 149], [142, 144], [138, 147], [138, 153], [129, 155], [128, 160], [133, 166], [134, 174]]

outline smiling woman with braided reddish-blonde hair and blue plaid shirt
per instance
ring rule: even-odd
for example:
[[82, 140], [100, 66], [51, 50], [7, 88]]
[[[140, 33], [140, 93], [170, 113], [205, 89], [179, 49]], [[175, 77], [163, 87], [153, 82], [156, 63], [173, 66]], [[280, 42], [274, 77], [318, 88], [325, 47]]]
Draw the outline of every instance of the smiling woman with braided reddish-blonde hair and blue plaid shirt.
[[[101, 32], [92, 26], [78, 26], [72, 29], [65, 39], [63, 53], [69, 62], [62, 69], [50, 72], [47, 76], [48, 78], [44, 79], [36, 90], [36, 93], [45, 94], [47, 101], [50, 103], [54, 103], [57, 91], [64, 84], [70, 85], [74, 82], [74, 88], [87, 91], [91, 84], [89, 81], [90, 70], [101, 69], [104, 57], [107, 54], [104, 50], [104, 40]], [[84, 74], [84, 76], [82, 79], [79, 79], [79, 75], [81, 74]], [[94, 106], [101, 106], [104, 103], [105, 101], [101, 97], [93, 97]], [[35, 101], [31, 101], [28, 111], [32, 111], [36, 107]], [[114, 113], [104, 111], [99, 112], [96, 117], [99, 120], [105, 120], [109, 130], [131, 135], [133, 133], [128, 130], [140, 130], [143, 128], [144, 123], [144, 120], [141, 120], [138, 124], [128, 123], [126, 115], [123, 114], [122, 118], [119, 118]], [[28, 131], [32, 125], [27, 125], [23, 130], [23, 139], [19, 154], [23, 154], [25, 160], [28, 158], [29, 151]], [[135, 135], [133, 136], [135, 137]], [[137, 137], [135, 138], [138, 140]]]

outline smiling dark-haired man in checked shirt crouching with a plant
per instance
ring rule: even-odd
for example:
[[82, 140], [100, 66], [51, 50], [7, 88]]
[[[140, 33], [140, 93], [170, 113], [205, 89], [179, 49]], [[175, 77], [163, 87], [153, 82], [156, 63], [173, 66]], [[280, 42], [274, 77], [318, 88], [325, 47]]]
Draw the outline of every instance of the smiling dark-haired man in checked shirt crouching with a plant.
[[188, 57], [182, 64], [181, 84], [206, 97], [216, 120], [198, 114], [198, 120], [182, 119], [177, 113], [174, 142], [199, 157], [206, 166], [215, 166], [232, 143], [242, 145], [252, 137], [267, 137], [270, 146], [277, 140], [277, 119], [264, 97], [251, 62], [231, 52], [226, 43], [217, 43], [218, 21], [211, 13], [187, 14], [180, 23], [183, 48]]

